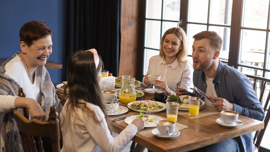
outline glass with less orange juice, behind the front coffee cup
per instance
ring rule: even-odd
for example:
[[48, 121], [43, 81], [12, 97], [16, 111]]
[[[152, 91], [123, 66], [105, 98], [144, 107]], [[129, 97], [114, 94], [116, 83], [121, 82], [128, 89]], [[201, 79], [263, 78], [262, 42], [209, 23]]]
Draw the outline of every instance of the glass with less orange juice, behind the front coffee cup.
[[178, 102], [167, 102], [166, 103], [166, 110], [167, 110], [167, 120], [170, 121], [177, 121], [177, 115], [178, 115]]

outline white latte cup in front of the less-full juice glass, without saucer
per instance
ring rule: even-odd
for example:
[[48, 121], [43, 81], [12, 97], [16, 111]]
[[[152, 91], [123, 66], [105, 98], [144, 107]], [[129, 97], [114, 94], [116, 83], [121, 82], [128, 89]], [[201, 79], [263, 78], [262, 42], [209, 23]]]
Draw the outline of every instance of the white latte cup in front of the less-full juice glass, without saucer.
[[175, 128], [175, 122], [170, 120], [160, 120], [156, 122], [156, 128], [162, 135], [168, 135], [172, 133]]

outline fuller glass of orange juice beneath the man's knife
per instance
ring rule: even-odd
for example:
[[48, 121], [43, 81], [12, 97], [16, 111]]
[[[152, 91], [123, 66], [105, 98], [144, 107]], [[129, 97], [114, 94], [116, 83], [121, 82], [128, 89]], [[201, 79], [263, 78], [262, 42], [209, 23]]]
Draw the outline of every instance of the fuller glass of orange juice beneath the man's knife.
[[189, 97], [188, 98], [188, 115], [190, 117], [197, 117], [199, 115], [200, 98]]

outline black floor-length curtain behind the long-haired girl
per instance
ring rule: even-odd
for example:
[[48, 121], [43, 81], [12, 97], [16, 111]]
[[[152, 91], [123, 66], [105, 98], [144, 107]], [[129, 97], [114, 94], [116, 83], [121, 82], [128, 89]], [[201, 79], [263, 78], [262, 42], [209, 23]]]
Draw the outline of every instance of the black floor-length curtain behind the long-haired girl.
[[118, 76], [121, 0], [68, 0], [66, 54], [95, 48], [104, 70]]

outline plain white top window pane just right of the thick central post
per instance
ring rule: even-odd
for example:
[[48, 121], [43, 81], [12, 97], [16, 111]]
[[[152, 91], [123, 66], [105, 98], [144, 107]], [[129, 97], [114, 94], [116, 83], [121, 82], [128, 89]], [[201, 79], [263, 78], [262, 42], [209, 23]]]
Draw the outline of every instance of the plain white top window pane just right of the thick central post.
[[207, 23], [208, 0], [192, 0], [188, 6], [189, 22]]

